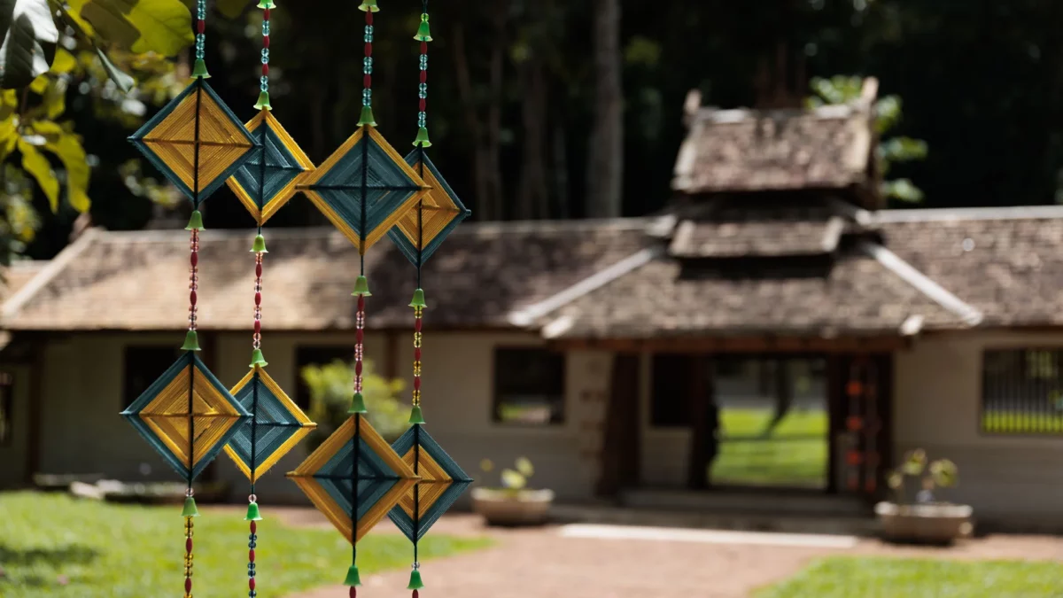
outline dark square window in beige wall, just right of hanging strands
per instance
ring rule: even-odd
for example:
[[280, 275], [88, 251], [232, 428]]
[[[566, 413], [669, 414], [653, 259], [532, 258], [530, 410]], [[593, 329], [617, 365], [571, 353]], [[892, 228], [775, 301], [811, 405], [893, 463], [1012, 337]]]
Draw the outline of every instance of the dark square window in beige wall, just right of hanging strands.
[[495, 349], [494, 421], [564, 421], [564, 354], [545, 349]]

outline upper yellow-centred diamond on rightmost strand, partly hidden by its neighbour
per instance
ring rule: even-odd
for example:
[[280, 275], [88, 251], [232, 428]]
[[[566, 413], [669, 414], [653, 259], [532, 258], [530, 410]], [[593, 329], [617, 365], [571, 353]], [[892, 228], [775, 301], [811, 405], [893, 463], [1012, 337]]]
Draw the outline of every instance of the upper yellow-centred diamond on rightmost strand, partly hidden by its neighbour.
[[[423, 162], [422, 162], [423, 160]], [[421, 264], [439, 249], [439, 246], [471, 213], [458, 199], [454, 189], [439, 173], [421, 149], [416, 149], [406, 156], [406, 164], [431, 187], [421, 199], [420, 214], [418, 206], [406, 212], [399, 222], [388, 231], [388, 236], [415, 266], [418, 265], [418, 246], [422, 247]]]

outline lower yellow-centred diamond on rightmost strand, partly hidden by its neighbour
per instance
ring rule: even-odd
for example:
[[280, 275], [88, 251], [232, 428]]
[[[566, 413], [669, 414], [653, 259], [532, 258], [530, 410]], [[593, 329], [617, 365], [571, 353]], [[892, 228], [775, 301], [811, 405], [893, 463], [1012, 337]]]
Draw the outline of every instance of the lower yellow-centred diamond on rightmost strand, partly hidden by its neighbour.
[[[416, 499], [415, 488], [410, 488], [388, 513], [406, 537], [416, 542], [454, 504], [472, 479], [421, 426], [407, 430], [391, 448], [411, 469], [416, 460], [415, 471], [421, 477], [416, 484]], [[416, 521], [415, 504], [418, 513]]]

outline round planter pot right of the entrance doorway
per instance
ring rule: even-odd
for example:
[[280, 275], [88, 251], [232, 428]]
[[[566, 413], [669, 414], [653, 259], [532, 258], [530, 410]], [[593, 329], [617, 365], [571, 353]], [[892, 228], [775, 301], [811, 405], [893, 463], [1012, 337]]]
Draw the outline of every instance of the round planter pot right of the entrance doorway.
[[951, 544], [974, 532], [966, 504], [896, 504], [879, 502], [875, 514], [882, 525], [882, 536], [893, 542]]

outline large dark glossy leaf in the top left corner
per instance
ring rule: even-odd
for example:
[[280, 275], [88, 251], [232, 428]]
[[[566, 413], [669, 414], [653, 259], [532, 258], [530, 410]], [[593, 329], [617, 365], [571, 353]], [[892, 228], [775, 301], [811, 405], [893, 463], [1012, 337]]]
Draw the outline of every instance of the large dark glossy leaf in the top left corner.
[[60, 32], [48, 0], [0, 0], [0, 87], [26, 87], [48, 72]]

